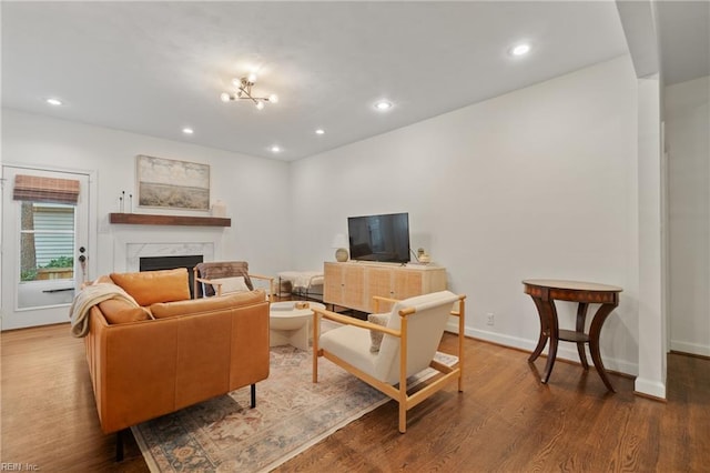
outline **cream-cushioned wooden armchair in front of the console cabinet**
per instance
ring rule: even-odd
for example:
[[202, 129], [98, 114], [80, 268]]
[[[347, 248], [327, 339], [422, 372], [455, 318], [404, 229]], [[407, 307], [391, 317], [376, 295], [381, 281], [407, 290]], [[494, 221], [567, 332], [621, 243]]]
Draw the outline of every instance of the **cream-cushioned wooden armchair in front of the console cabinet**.
[[[407, 411], [447, 383], [458, 381], [463, 391], [465, 295], [440, 291], [394, 302], [385, 326], [313, 309], [313, 382], [318, 382], [318, 356], [326, 358], [347, 372], [399, 403], [399, 432], [407, 427]], [[434, 360], [449, 315], [458, 316], [458, 363], [447, 366]], [[343, 326], [320, 333], [321, 318]], [[378, 352], [371, 350], [372, 332], [383, 334]], [[427, 385], [409, 395], [407, 378], [433, 368], [439, 373]]]

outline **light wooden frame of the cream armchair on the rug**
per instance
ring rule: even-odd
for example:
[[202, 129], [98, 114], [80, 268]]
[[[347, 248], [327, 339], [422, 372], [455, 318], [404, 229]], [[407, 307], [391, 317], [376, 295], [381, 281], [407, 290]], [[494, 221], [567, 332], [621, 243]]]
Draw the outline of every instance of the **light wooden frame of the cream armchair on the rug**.
[[[396, 303], [399, 302], [389, 298], [375, 296], [374, 309], [378, 312], [379, 303]], [[449, 382], [458, 381], [458, 392], [464, 391], [464, 326], [465, 326], [465, 300], [466, 295], [458, 295], [458, 310], [452, 310], [450, 315], [458, 318], [458, 363], [454, 366], [447, 366], [443, 363], [432, 360], [429, 366], [438, 371], [434, 381], [427, 383], [427, 385], [413, 394], [407, 394], [407, 319], [416, 312], [414, 308], [406, 308], [398, 312], [400, 318], [400, 329], [393, 330], [375, 323], [362, 321], [347, 315], [342, 315], [332, 311], [313, 309], [313, 382], [318, 382], [318, 356], [323, 356], [345, 371], [359, 378], [376, 390], [383, 392], [389, 397], [399, 403], [399, 432], [405, 433], [407, 429], [407, 411], [416, 406], [434, 393], [440, 391]], [[396, 336], [399, 339], [399, 382], [397, 386], [383, 382], [373, 375], [365, 373], [364, 371], [353, 366], [345, 360], [336, 356], [333, 353], [318, 346], [320, 336], [320, 323], [321, 318], [332, 320], [346, 325], [354, 325], [366, 330], [373, 330]]]

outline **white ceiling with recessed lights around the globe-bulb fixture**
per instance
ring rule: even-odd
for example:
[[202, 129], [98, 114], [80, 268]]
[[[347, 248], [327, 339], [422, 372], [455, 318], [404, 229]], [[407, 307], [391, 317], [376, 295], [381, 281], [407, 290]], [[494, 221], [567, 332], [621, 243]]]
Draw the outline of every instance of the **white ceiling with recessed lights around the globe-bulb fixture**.
[[[628, 52], [613, 1], [3, 1], [1, 9], [3, 107], [286, 161]], [[678, 20], [686, 10], [669, 10], [672, 28], [698, 23], [697, 11]], [[521, 40], [532, 51], [514, 59], [507, 50]], [[672, 69], [684, 70], [672, 56]], [[690, 74], [708, 74], [707, 61], [691, 62]], [[231, 79], [252, 68], [254, 91], [280, 102], [262, 111], [221, 102]], [[50, 108], [49, 97], [64, 105]], [[375, 111], [381, 98], [394, 108]]]

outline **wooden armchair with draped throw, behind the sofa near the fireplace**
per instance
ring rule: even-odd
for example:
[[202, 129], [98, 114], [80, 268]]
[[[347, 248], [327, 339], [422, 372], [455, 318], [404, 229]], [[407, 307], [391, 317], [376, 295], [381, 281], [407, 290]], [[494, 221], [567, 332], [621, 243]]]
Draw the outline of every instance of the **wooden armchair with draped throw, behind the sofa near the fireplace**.
[[[267, 298], [274, 295], [274, 278], [248, 272], [246, 261], [217, 261], [199, 263], [193, 268], [193, 298], [209, 298], [232, 292], [253, 291], [252, 280], [268, 283]], [[242, 278], [240, 280], [239, 278]]]

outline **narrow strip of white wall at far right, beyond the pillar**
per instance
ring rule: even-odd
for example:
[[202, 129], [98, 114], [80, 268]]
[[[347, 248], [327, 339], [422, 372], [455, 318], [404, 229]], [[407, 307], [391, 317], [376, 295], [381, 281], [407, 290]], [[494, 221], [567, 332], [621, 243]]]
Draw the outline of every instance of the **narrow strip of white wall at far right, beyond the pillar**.
[[670, 349], [710, 355], [710, 77], [665, 90]]

